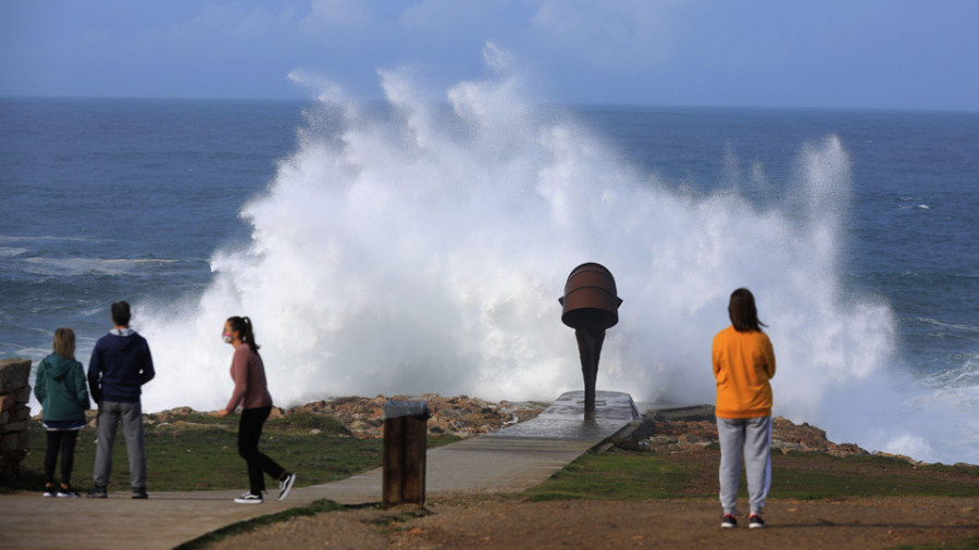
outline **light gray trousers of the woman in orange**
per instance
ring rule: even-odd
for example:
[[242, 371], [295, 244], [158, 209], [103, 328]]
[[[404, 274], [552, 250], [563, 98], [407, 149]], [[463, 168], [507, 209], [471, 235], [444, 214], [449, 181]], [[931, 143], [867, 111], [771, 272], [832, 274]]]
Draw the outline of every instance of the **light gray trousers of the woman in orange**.
[[735, 512], [741, 464], [748, 482], [751, 513], [760, 514], [771, 487], [771, 416], [758, 418], [717, 417], [721, 446], [720, 500], [726, 514]]

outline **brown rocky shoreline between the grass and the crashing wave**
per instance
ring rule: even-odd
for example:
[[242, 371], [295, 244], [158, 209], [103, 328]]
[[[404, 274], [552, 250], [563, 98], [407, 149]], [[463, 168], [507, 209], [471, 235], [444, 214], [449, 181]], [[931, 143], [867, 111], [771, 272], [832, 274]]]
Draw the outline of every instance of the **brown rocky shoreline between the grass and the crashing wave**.
[[[427, 402], [431, 417], [427, 422], [432, 436], [450, 435], [468, 438], [503, 429], [507, 425], [536, 417], [549, 403], [524, 401], [492, 402], [469, 396], [443, 397], [437, 393], [423, 396], [339, 397], [310, 402], [299, 407], [273, 408], [271, 418], [292, 414], [330, 416], [343, 424], [346, 432], [359, 439], [382, 437], [384, 404], [389, 400], [423, 400]], [[145, 415], [149, 424], [174, 422], [181, 416], [202, 413], [189, 407]], [[89, 411], [92, 426], [95, 412]], [[695, 452], [717, 443], [717, 425], [710, 405], [685, 407], [668, 410], [650, 410], [641, 421], [612, 438], [615, 443], [631, 450], [653, 453]], [[833, 457], [871, 454], [854, 443], [830, 441], [826, 432], [808, 423], [794, 424], [778, 416], [773, 420], [772, 448], [782, 453], [822, 452]], [[910, 457], [876, 452], [912, 464], [924, 464]]]

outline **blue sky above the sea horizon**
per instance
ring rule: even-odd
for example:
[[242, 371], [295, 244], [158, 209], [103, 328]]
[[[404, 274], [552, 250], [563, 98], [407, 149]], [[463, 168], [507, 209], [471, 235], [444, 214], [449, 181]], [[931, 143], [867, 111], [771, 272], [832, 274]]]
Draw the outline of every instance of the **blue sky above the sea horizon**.
[[975, 0], [2, 0], [0, 96], [433, 95], [506, 54], [571, 103], [979, 111]]

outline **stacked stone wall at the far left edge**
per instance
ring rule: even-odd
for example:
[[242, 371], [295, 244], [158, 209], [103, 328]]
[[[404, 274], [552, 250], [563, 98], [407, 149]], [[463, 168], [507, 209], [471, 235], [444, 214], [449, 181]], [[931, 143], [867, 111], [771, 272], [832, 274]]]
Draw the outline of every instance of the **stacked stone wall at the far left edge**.
[[0, 471], [17, 475], [27, 455], [30, 360], [0, 360]]

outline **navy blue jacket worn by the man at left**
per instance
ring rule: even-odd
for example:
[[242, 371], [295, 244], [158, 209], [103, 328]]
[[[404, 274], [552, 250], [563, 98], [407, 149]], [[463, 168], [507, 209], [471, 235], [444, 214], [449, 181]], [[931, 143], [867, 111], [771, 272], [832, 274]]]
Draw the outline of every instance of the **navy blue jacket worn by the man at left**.
[[91, 350], [88, 389], [97, 403], [135, 403], [142, 393], [140, 387], [156, 375], [146, 338], [135, 330], [112, 330]]

